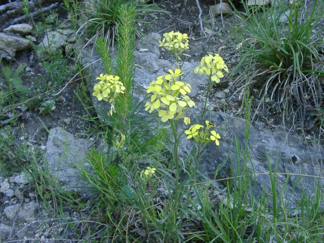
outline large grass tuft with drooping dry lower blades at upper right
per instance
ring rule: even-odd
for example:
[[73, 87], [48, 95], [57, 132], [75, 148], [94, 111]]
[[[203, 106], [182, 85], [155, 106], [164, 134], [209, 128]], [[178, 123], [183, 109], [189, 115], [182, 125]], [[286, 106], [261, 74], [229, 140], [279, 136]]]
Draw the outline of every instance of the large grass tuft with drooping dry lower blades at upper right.
[[244, 6], [246, 15], [236, 11], [242, 55], [236, 70], [246, 67], [243, 87], [258, 88], [262, 102], [266, 97], [273, 100], [285, 119], [297, 112], [303, 123], [311, 112], [320, 115], [323, 3], [314, 1], [308, 10], [301, 0], [289, 7], [282, 1], [271, 8]]

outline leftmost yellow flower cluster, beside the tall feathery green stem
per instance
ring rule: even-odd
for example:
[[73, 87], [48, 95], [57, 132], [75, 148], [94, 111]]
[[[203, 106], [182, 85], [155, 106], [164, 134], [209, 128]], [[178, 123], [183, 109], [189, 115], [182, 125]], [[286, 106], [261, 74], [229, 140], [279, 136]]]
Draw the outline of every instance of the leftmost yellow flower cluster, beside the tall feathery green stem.
[[124, 94], [126, 88], [123, 83], [118, 81], [118, 76], [101, 73], [96, 79], [99, 79], [99, 83], [93, 87], [94, 92], [92, 95], [97, 97], [99, 101], [109, 101], [111, 103], [109, 113], [112, 114], [112, 111], [114, 111], [114, 99], [120, 93]]

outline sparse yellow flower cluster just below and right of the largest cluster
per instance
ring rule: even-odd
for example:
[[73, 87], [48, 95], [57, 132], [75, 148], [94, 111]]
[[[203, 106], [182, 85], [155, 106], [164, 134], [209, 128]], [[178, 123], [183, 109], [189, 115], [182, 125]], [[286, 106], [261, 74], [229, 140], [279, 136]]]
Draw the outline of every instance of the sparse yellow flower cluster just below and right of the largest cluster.
[[[218, 139], [221, 139], [221, 136], [216, 133], [214, 130], [210, 131], [211, 128], [215, 127], [210, 123], [209, 120], [205, 121], [206, 128], [203, 125], [194, 124], [184, 133], [187, 135], [187, 139], [193, 139], [195, 142], [209, 143], [210, 141], [215, 141], [216, 145], [219, 145]], [[201, 129], [201, 130], [200, 130]]]

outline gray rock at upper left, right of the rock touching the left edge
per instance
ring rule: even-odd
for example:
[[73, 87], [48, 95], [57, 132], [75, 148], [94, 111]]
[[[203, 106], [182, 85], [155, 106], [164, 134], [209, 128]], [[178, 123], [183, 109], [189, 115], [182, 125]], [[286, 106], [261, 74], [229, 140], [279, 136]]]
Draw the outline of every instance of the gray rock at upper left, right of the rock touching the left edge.
[[38, 45], [37, 55], [49, 59], [49, 53], [61, 53], [73, 33], [74, 31], [70, 29], [57, 29], [46, 34], [43, 41]]

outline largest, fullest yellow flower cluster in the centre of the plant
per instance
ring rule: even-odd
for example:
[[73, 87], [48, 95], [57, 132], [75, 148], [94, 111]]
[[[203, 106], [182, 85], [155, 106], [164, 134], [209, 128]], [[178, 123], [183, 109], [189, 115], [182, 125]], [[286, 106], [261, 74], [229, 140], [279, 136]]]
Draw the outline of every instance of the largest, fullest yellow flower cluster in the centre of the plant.
[[158, 111], [158, 116], [163, 122], [180, 118], [188, 107], [194, 106], [194, 102], [187, 96], [191, 92], [189, 84], [178, 81], [178, 77], [183, 75], [180, 69], [175, 71], [169, 69], [167, 75], [161, 75], [152, 81], [146, 88], [147, 93], [153, 93], [149, 101], [145, 104], [145, 110], [151, 113]]

